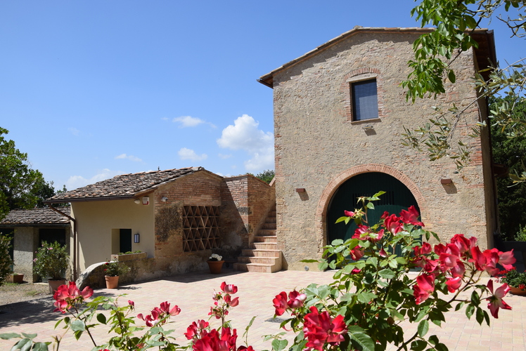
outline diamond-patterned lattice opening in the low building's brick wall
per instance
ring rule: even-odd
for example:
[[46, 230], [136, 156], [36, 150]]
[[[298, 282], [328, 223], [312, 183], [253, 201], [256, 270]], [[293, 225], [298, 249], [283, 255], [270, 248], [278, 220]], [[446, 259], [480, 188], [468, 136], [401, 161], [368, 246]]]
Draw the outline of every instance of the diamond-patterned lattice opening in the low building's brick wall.
[[184, 251], [219, 247], [219, 206], [184, 206], [183, 233]]

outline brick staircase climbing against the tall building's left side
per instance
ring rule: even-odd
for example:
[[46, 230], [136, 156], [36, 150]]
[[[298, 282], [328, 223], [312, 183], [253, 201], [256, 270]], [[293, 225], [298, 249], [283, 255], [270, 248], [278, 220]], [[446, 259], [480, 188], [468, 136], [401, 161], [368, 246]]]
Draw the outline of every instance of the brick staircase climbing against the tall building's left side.
[[262, 228], [254, 237], [252, 249], [243, 249], [234, 270], [274, 273], [281, 270], [281, 250], [276, 237], [276, 208], [269, 212]]

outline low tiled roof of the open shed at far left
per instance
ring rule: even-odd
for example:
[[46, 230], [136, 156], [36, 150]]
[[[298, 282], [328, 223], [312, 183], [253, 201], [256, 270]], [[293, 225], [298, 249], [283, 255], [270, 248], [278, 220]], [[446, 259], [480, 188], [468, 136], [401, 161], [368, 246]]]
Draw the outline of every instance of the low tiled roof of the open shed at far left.
[[[70, 216], [70, 206], [58, 207], [59, 211]], [[6, 218], [0, 221], [2, 227], [7, 225], [69, 225], [68, 217], [56, 213], [49, 207], [30, 210], [11, 210]]]

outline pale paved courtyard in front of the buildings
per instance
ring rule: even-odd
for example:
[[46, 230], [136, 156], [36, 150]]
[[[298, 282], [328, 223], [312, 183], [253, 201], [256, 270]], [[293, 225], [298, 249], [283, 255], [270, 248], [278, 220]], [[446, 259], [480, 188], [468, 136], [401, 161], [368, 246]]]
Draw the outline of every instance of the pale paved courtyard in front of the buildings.
[[[121, 303], [134, 300], [136, 312], [134, 314], [149, 314], [150, 310], [163, 301], [179, 305], [181, 314], [172, 317], [169, 329], [175, 329], [172, 336], [177, 337], [181, 345], [187, 340], [183, 333], [191, 322], [197, 319], [207, 319], [212, 305], [212, 293], [219, 291], [219, 285], [226, 281], [236, 284], [239, 288], [236, 296], [240, 303], [234, 307], [229, 317], [233, 327], [238, 329], [238, 345], [243, 344], [241, 336], [245, 326], [253, 316], [256, 316], [250, 329], [248, 342], [255, 350], [270, 350], [270, 341], [264, 342], [262, 336], [279, 332], [279, 324], [270, 322], [274, 317], [272, 299], [280, 291], [300, 289], [311, 283], [326, 284], [331, 282], [331, 272], [295, 272], [281, 271], [274, 274], [232, 272], [226, 270], [223, 274], [209, 274], [198, 272], [182, 274], [165, 279], [120, 286], [117, 290], [98, 289], [94, 296], [117, 296], [127, 293]], [[500, 310], [499, 319], [492, 319], [492, 325], [479, 326], [475, 318], [468, 320], [463, 310], [446, 314], [447, 323], [442, 328], [432, 325], [428, 335], [436, 334], [449, 350], [506, 350], [519, 351], [526, 348], [526, 297], [509, 295], [506, 302], [513, 310]], [[25, 332], [38, 333], [36, 340], [51, 341], [51, 336], [60, 335], [62, 329], [53, 329], [63, 314], [53, 311], [53, 298], [41, 298], [24, 303], [14, 303], [0, 306], [0, 333]], [[486, 305], [486, 303], [482, 303]], [[486, 308], [484, 306], [484, 308]], [[212, 320], [212, 326], [217, 326]], [[407, 324], [406, 335], [412, 335], [416, 326]], [[288, 337], [289, 339], [291, 336]], [[108, 339], [103, 329], [95, 329], [94, 339], [98, 343]], [[9, 350], [12, 340], [0, 340], [0, 350]], [[77, 351], [91, 350], [93, 344], [84, 334], [76, 341], [72, 333], [68, 333], [60, 344], [60, 350]], [[389, 350], [395, 350], [394, 347]]]

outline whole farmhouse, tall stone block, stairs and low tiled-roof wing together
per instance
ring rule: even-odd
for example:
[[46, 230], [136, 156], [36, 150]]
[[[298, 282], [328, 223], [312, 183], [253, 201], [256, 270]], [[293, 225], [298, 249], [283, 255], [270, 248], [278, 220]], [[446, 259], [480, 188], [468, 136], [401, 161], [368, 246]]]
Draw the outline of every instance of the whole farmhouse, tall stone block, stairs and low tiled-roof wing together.
[[[440, 236], [463, 233], [492, 247], [498, 228], [490, 135], [468, 133], [487, 119], [472, 78], [496, 62], [493, 34], [473, 32], [480, 45], [452, 63], [456, 83], [436, 100], [411, 104], [399, 84], [409, 74], [413, 41], [429, 30], [355, 27], [262, 76], [259, 82], [274, 90], [271, 185], [250, 175], [180, 168], [116, 176], [46, 201], [71, 205], [70, 213], [56, 208], [60, 216], [47, 224], [70, 225], [63, 235], [72, 277], [136, 250], [147, 257], [131, 264], [131, 280], [205, 270], [211, 253], [238, 270], [317, 270], [301, 260], [320, 258], [324, 245], [352, 236], [352, 226], [335, 220], [354, 209], [357, 197], [380, 190], [386, 194], [371, 222], [413, 205]], [[451, 103], [466, 108], [454, 138], [473, 151], [461, 171], [449, 159], [429, 161], [401, 144], [404, 126], [420, 126], [433, 107]], [[19, 233], [31, 224], [10, 218], [1, 225], [20, 225]], [[15, 232], [15, 258], [31, 256], [36, 230]]]

